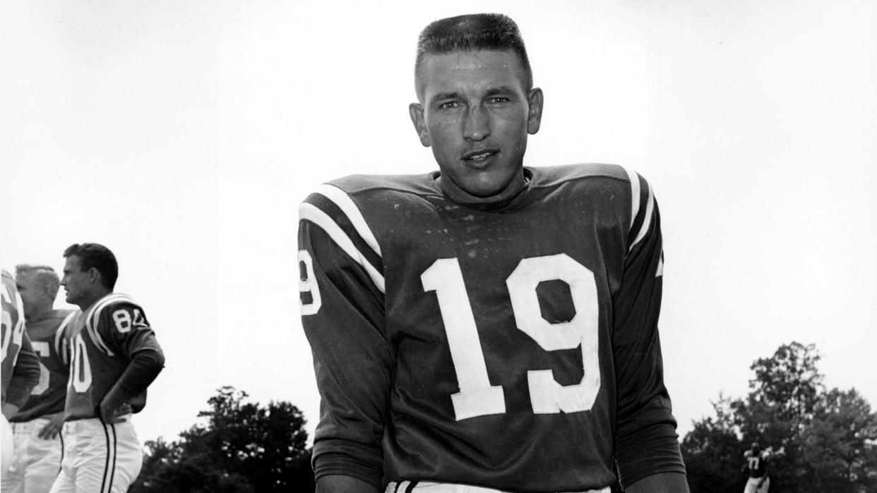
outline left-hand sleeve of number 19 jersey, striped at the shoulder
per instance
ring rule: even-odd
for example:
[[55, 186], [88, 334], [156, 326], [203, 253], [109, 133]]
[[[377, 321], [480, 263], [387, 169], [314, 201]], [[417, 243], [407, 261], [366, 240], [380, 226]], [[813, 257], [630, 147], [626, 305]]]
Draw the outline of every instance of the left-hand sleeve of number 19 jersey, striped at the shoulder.
[[380, 488], [395, 361], [383, 327], [380, 249], [346, 194], [322, 191], [299, 208], [298, 229], [302, 324], [321, 398], [314, 473]]

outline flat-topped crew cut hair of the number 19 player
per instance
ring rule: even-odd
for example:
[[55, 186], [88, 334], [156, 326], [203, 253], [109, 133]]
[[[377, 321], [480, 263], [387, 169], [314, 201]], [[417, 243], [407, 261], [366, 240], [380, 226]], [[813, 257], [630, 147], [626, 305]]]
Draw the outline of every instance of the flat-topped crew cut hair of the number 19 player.
[[[426, 53], [446, 54], [477, 50], [511, 50], [524, 67], [524, 89], [533, 88], [533, 72], [524, 47], [524, 39], [515, 21], [504, 14], [467, 14], [443, 18], [427, 25], [417, 39], [417, 71]], [[417, 94], [420, 94], [419, 88]]]

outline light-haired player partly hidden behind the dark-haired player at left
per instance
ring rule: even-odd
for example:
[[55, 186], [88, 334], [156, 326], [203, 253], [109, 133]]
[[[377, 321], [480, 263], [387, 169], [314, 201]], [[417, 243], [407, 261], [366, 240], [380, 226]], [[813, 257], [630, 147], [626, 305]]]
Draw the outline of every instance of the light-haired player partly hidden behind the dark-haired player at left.
[[15, 284], [25, 307], [27, 335], [39, 356], [39, 384], [11, 421], [15, 457], [3, 490], [46, 493], [61, 470], [61, 425], [67, 397], [68, 347], [64, 327], [73, 310], [54, 310], [58, 274], [44, 265], [17, 265]]

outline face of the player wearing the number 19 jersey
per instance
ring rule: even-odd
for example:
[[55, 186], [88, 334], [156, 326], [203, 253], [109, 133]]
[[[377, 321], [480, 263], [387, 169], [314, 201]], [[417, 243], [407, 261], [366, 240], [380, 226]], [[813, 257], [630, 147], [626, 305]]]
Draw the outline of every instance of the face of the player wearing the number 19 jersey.
[[524, 80], [510, 50], [424, 56], [411, 121], [453, 198], [502, 200], [523, 186], [527, 135], [542, 117], [542, 91]]

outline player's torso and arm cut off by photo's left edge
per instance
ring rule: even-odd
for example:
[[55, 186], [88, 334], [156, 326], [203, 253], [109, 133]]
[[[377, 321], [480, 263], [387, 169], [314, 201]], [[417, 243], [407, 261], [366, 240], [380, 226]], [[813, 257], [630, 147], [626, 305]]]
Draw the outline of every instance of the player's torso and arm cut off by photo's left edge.
[[15, 280], [5, 270], [0, 272], [0, 403], [3, 415], [11, 419], [25, 404], [34, 385], [39, 383], [39, 359], [33, 352], [31, 340], [25, 332], [25, 309]]

